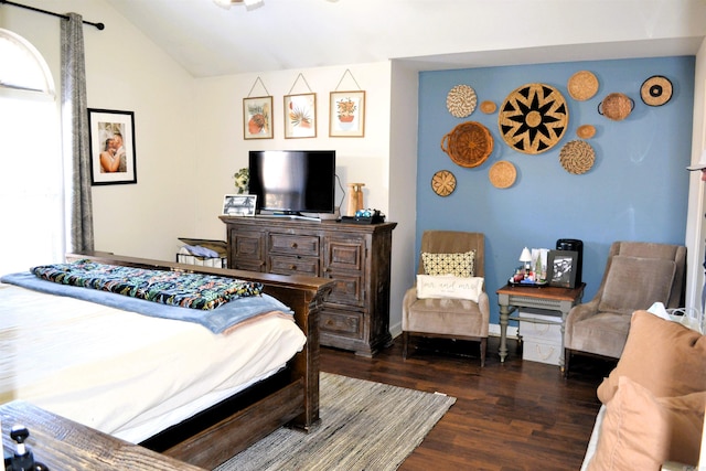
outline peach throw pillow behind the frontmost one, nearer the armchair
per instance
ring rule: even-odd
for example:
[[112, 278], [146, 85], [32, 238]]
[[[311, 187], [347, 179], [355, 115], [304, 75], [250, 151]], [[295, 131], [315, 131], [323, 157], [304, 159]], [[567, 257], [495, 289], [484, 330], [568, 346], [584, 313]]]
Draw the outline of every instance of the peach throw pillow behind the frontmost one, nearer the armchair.
[[706, 336], [648, 311], [635, 311], [618, 365], [598, 386], [603, 403], [628, 376], [656, 397], [706, 390]]

